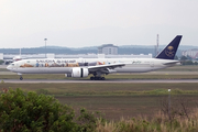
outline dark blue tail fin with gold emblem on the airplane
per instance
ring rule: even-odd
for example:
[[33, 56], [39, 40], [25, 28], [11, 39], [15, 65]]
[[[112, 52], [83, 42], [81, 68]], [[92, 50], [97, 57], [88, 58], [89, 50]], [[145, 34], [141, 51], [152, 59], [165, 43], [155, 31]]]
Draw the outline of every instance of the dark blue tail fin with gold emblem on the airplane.
[[182, 35], [177, 35], [157, 56], [162, 59], [174, 59], [178, 45], [182, 40]]

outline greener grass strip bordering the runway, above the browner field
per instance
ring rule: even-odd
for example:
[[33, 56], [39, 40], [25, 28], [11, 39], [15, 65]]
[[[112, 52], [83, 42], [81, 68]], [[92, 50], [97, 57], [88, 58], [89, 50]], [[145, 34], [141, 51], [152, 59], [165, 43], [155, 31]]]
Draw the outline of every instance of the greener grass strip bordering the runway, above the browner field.
[[0, 88], [22, 88], [55, 96], [135, 96], [135, 95], [198, 95], [197, 84], [6, 84]]

